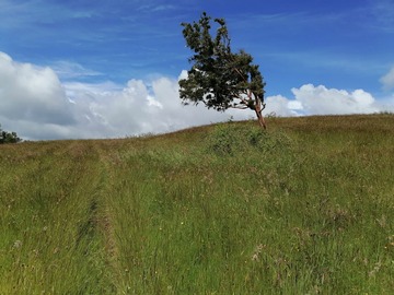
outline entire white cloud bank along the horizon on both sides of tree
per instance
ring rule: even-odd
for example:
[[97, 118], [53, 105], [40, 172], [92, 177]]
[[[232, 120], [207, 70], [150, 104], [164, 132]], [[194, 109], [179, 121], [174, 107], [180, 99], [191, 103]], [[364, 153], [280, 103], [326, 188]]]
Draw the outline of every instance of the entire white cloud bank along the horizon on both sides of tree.
[[[77, 70], [76, 75], [81, 73], [81, 68]], [[348, 92], [305, 84], [291, 91], [294, 96], [291, 99], [268, 96], [265, 114], [301, 116], [382, 110], [363, 90]], [[126, 85], [61, 82], [51, 68], [16, 62], [0, 52], [0, 123], [23, 139], [121, 138], [169, 132], [231, 117], [241, 120], [253, 118], [254, 114], [235, 109], [222, 114], [202, 105], [182, 106], [177, 79], [131, 79]]]

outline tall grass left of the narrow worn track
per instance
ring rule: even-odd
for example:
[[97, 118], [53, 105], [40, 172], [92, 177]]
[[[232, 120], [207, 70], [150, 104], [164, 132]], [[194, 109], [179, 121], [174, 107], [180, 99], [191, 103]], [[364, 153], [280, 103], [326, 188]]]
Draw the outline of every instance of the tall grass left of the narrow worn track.
[[94, 204], [101, 169], [90, 143], [1, 149], [0, 293], [111, 288]]

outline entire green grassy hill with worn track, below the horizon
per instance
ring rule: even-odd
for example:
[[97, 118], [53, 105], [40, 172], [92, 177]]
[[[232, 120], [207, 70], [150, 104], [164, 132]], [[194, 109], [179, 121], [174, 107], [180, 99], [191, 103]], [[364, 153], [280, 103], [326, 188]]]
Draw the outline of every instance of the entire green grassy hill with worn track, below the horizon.
[[391, 294], [394, 116], [0, 146], [0, 294]]

